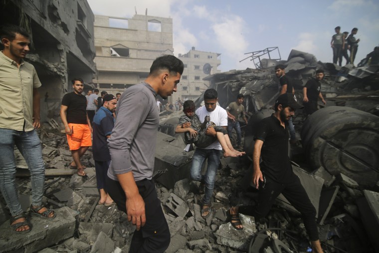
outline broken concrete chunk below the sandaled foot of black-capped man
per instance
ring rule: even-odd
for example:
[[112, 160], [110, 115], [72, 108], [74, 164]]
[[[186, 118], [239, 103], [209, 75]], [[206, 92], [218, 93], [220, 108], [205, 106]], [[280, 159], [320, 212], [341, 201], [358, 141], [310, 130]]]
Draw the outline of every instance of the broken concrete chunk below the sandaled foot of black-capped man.
[[256, 234], [254, 217], [239, 214], [243, 230], [234, 229], [230, 222], [223, 224], [214, 233], [217, 243], [241, 251], [248, 251], [251, 239]]

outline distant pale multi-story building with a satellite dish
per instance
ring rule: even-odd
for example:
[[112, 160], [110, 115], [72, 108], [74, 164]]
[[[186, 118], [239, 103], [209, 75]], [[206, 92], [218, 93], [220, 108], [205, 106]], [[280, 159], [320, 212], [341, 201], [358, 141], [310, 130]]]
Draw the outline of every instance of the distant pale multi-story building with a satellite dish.
[[194, 100], [209, 87], [209, 81], [202, 80], [211, 74], [219, 73], [217, 66], [221, 64], [220, 53], [204, 52], [192, 47], [186, 54], [179, 54], [185, 64], [178, 91], [173, 94], [173, 101]]

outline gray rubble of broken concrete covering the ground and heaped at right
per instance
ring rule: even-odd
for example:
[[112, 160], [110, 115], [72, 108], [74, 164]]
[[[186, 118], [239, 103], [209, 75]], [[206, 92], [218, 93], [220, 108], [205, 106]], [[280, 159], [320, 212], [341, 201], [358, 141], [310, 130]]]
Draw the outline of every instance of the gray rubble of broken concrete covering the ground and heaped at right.
[[[273, 66], [286, 65], [297, 80], [296, 96], [318, 68], [327, 72], [322, 91], [326, 108], [308, 118], [296, 112], [294, 125], [301, 143], [291, 146], [293, 170], [317, 211], [319, 237], [325, 252], [379, 252], [379, 67], [339, 67], [318, 62], [293, 50], [287, 61], [262, 60], [261, 69], [233, 70], [207, 77], [225, 108], [238, 93], [245, 96], [249, 123], [243, 126], [244, 151], [238, 158], [222, 158], [217, 171], [211, 214], [200, 215], [202, 189], [189, 176], [193, 147], [184, 151], [175, 127], [183, 112], [163, 112], [157, 135], [155, 171], [157, 192], [171, 232], [167, 253], [309, 252], [310, 245], [299, 213], [279, 196], [269, 215], [260, 220], [243, 216], [242, 231], [228, 222], [227, 210], [255, 205], [258, 192], [250, 186], [251, 154], [256, 123], [272, 113], [278, 96]], [[196, 105], [202, 101], [200, 96]], [[320, 105], [322, 108], [323, 105]], [[87, 177], [69, 169], [72, 161], [66, 136], [57, 123], [43, 123], [39, 135], [46, 164], [43, 202], [53, 208], [54, 220], [30, 218], [32, 231], [10, 232], [9, 214], [0, 199], [1, 252], [128, 252], [135, 226], [116, 205], [98, 205], [94, 161], [89, 149], [81, 162]], [[236, 136], [232, 134], [232, 143]], [[26, 163], [15, 150], [17, 190], [25, 212], [31, 184]]]

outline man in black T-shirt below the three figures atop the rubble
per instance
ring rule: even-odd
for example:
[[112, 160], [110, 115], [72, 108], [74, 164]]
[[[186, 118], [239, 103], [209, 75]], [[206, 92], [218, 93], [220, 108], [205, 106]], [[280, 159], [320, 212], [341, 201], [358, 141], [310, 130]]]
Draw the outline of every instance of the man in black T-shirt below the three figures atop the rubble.
[[316, 71], [316, 79], [312, 78], [309, 80], [303, 88], [303, 104], [304, 110], [307, 115], [310, 115], [317, 111], [317, 100], [318, 98], [326, 105], [323, 94], [321, 94], [321, 84], [320, 81], [324, 79], [324, 70], [318, 69]]

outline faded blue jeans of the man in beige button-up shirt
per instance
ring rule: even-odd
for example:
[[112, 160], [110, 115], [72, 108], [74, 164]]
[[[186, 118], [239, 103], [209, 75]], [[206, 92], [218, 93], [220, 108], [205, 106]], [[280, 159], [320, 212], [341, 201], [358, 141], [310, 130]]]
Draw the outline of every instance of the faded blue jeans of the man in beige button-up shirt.
[[12, 216], [22, 213], [15, 186], [14, 145], [21, 152], [30, 171], [33, 206], [42, 205], [45, 182], [41, 143], [35, 130], [23, 132], [0, 128], [0, 189]]

